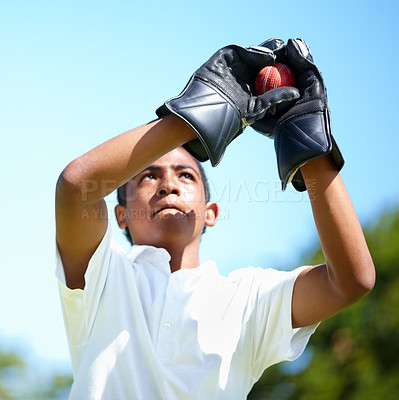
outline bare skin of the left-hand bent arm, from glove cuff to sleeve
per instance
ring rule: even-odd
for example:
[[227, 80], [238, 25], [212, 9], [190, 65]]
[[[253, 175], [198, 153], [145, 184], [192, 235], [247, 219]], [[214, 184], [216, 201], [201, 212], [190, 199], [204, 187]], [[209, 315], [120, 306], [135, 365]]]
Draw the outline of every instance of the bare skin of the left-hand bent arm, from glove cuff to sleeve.
[[56, 238], [68, 287], [84, 288], [88, 262], [107, 229], [104, 197], [195, 137], [188, 125], [168, 115], [123, 133], [68, 164], [56, 188]]

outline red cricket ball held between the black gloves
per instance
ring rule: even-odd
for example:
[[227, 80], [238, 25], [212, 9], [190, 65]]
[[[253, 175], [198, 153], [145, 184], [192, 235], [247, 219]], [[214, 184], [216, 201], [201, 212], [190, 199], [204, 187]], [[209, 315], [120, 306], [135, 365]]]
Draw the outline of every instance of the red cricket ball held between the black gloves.
[[284, 64], [277, 63], [263, 68], [255, 79], [258, 95], [280, 86], [295, 86], [294, 73]]

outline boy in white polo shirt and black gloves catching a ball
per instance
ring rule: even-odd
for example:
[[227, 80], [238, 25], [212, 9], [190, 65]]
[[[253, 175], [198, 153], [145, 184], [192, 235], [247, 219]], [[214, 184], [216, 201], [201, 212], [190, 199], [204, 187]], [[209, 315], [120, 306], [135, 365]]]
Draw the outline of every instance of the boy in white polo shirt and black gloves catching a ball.
[[[299, 91], [255, 96], [253, 72], [276, 61], [290, 63]], [[318, 322], [374, 284], [303, 41], [221, 49], [157, 112], [71, 162], [57, 184], [70, 399], [244, 399], [268, 366], [298, 357]], [[218, 206], [192, 155], [216, 165], [248, 124], [274, 136], [283, 187], [308, 189], [325, 265], [222, 277], [214, 263], [200, 264], [201, 234]], [[129, 254], [111, 240], [104, 201], [121, 186], [115, 212], [135, 244]]]

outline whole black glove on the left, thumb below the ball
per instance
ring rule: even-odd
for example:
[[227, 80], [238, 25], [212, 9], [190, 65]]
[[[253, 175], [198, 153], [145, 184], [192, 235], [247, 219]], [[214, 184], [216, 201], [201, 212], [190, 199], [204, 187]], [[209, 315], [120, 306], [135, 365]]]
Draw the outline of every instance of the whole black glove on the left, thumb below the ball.
[[199, 161], [210, 159], [216, 166], [246, 126], [270, 108], [299, 98], [298, 90], [288, 87], [254, 95], [256, 73], [274, 63], [273, 51], [265, 47], [224, 47], [192, 75], [179, 96], [166, 101], [156, 113], [158, 117], [173, 113], [185, 121], [198, 136], [185, 149]]

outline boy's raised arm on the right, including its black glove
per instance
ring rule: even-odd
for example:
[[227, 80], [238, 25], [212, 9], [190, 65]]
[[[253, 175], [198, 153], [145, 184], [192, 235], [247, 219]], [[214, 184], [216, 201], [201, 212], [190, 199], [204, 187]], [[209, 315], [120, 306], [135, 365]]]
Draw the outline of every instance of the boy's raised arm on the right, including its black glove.
[[[263, 45], [269, 46], [267, 41]], [[293, 68], [300, 99], [274, 125], [254, 128], [274, 136], [283, 189], [292, 182], [308, 190], [326, 264], [310, 267], [297, 278], [292, 322], [300, 327], [319, 322], [367, 293], [374, 285], [373, 262], [339, 170], [344, 164], [332, 136], [323, 78], [302, 39], [274, 48], [276, 61]]]

